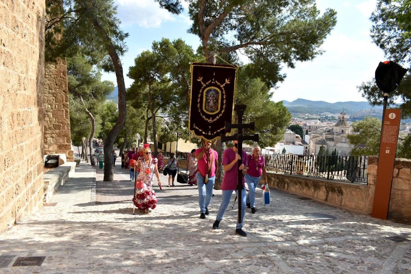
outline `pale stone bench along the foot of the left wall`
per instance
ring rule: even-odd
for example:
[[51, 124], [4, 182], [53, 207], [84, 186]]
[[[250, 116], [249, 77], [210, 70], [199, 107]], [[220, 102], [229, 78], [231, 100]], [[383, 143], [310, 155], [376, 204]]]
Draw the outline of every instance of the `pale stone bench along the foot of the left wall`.
[[63, 185], [69, 177], [73, 176], [75, 167], [76, 162], [67, 162], [44, 173], [44, 203], [49, 203], [58, 188]]

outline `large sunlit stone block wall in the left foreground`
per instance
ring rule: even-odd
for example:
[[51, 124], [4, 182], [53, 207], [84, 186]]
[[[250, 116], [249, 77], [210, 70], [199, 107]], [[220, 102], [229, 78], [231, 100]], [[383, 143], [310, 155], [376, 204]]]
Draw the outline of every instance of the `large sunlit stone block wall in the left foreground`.
[[0, 231], [43, 203], [44, 5], [0, 1]]

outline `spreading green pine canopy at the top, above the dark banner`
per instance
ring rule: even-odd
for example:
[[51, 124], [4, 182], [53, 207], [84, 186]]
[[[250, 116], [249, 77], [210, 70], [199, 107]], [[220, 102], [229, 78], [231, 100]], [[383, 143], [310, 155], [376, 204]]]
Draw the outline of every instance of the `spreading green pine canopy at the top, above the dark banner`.
[[[157, 2], [170, 12], [182, 11], [182, 0]], [[248, 73], [269, 87], [284, 79], [282, 64], [294, 67], [296, 61], [321, 54], [320, 46], [337, 22], [332, 9], [320, 15], [315, 0], [185, 2], [193, 21], [189, 32], [200, 37], [205, 57], [241, 51], [253, 64]]]

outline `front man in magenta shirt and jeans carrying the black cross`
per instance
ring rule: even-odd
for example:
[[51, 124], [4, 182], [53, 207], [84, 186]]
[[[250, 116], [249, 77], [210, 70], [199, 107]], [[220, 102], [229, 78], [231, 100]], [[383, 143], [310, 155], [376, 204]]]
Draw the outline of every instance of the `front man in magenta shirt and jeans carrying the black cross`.
[[[223, 219], [224, 212], [226, 211], [229, 203], [231, 194], [233, 191], [236, 191], [238, 197], [238, 170], [242, 170], [242, 191], [241, 197], [241, 223], [238, 223], [236, 226], [236, 234], [241, 236], [247, 236], [247, 233], [242, 231], [242, 221], [244, 220], [245, 215], [245, 180], [244, 175], [247, 173], [247, 153], [242, 151], [242, 154], [238, 153], [237, 145], [238, 141], [233, 141], [234, 146], [224, 150], [223, 154], [223, 167], [224, 167], [224, 178], [223, 183], [221, 184], [221, 190], [223, 191], [223, 197], [221, 201], [220, 208], [217, 213], [214, 224], [212, 225], [213, 229], [217, 229], [220, 221]], [[241, 155], [241, 156], [240, 156]], [[238, 160], [241, 160], [241, 165], [238, 166]]]

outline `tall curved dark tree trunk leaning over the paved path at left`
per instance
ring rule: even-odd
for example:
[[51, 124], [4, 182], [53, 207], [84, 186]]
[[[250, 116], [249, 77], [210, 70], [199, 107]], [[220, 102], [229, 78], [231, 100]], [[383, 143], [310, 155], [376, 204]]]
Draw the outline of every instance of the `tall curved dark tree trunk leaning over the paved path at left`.
[[[88, 1], [91, 4], [91, 0]], [[110, 55], [111, 61], [113, 62], [115, 77], [117, 79], [118, 86], [118, 118], [114, 127], [111, 129], [106, 139], [104, 140], [104, 182], [113, 181], [113, 155], [111, 154], [111, 149], [114, 145], [114, 140], [117, 138], [118, 134], [124, 127], [126, 120], [126, 86], [124, 83], [123, 67], [121, 60], [117, 54], [116, 48], [111, 41], [109, 35], [104, 31], [104, 28], [100, 25], [97, 18], [92, 17], [92, 23], [95, 30], [99, 35], [105, 37], [106, 49]]]

